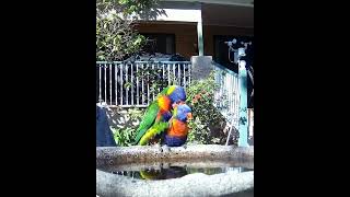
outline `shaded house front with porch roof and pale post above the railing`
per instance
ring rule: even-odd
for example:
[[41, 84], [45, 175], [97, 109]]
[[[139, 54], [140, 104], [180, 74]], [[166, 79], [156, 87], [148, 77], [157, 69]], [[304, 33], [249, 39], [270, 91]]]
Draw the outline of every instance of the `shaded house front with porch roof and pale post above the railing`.
[[164, 14], [142, 20], [136, 25], [140, 34], [154, 40], [161, 54], [211, 56], [219, 63], [228, 61], [224, 42], [253, 39], [253, 0], [163, 0]]

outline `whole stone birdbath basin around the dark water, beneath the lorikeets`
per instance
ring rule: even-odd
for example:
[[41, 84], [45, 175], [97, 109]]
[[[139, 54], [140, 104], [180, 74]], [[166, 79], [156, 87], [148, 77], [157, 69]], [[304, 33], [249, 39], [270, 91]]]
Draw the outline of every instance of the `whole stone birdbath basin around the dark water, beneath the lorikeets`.
[[[245, 172], [224, 171], [207, 175], [186, 174], [170, 179], [142, 179], [113, 174], [139, 169], [240, 166]], [[194, 144], [178, 148], [156, 146], [96, 148], [96, 194], [107, 196], [254, 196], [254, 147]]]

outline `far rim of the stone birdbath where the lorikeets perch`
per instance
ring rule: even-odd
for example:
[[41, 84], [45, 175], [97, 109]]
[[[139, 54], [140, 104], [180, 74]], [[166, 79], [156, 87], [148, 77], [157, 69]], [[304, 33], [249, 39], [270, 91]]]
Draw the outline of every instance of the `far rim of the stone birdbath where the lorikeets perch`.
[[96, 159], [113, 160], [114, 164], [135, 162], [162, 162], [178, 160], [254, 160], [254, 147], [196, 144], [168, 148], [156, 146], [103, 147], [96, 148]]

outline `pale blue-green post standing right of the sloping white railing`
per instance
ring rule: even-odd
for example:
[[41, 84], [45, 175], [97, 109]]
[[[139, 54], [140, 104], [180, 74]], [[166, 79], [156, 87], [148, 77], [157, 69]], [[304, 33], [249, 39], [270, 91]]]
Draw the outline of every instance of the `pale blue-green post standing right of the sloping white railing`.
[[238, 61], [238, 84], [240, 84], [240, 119], [238, 119], [238, 147], [248, 144], [248, 118], [247, 118], [247, 71], [244, 60]]

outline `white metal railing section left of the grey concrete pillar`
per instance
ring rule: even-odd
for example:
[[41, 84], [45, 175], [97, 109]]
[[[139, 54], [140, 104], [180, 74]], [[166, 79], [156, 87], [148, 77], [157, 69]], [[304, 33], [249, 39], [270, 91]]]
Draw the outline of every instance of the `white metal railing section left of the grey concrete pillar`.
[[97, 61], [96, 102], [147, 107], [165, 86], [187, 86], [190, 72], [190, 61]]

